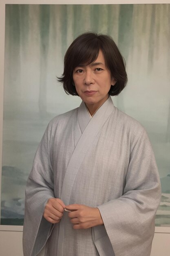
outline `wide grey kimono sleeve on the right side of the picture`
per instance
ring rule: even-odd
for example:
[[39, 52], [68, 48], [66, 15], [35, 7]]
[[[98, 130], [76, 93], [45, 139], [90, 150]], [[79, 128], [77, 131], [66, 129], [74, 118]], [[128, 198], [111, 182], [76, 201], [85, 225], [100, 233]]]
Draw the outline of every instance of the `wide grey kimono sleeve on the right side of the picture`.
[[115, 256], [150, 256], [161, 187], [145, 130], [131, 141], [124, 193], [98, 207]]

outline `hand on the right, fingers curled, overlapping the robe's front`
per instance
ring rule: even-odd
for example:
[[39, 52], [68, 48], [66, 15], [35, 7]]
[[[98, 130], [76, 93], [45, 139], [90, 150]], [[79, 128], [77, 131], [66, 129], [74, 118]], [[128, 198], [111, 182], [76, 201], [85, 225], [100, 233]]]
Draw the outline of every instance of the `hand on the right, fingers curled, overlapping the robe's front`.
[[70, 204], [66, 209], [71, 211], [68, 217], [71, 218], [73, 229], [88, 229], [97, 225], [103, 225], [103, 220], [98, 208], [88, 207], [83, 204]]

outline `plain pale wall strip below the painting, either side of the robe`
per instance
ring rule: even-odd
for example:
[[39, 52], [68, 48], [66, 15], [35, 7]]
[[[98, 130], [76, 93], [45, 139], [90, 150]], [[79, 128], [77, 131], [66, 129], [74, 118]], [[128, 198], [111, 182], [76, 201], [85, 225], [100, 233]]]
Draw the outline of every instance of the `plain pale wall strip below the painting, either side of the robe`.
[[[0, 255], [23, 256], [22, 231], [0, 231]], [[43, 254], [41, 254], [43, 255]], [[155, 233], [151, 256], [170, 255], [170, 234]], [[144, 255], [141, 255], [144, 256]]]

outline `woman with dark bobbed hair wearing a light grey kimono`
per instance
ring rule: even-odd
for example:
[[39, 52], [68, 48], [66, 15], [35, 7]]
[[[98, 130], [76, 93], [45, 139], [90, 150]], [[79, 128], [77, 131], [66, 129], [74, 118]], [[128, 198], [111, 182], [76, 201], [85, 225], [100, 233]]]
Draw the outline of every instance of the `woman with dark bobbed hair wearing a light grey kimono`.
[[85, 33], [59, 79], [79, 108], [46, 128], [26, 185], [24, 256], [149, 256], [160, 182], [144, 128], [114, 107], [127, 83], [112, 38]]

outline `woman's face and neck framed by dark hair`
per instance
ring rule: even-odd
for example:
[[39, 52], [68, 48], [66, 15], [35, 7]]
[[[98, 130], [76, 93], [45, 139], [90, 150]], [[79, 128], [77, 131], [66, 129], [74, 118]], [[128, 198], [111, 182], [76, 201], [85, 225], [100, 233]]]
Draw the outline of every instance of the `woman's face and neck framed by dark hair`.
[[73, 81], [79, 97], [86, 103], [90, 112], [91, 110], [95, 112], [97, 108], [102, 106], [108, 99], [110, 86], [116, 83], [106, 67], [105, 58], [101, 50], [97, 59], [91, 64], [75, 67]]

